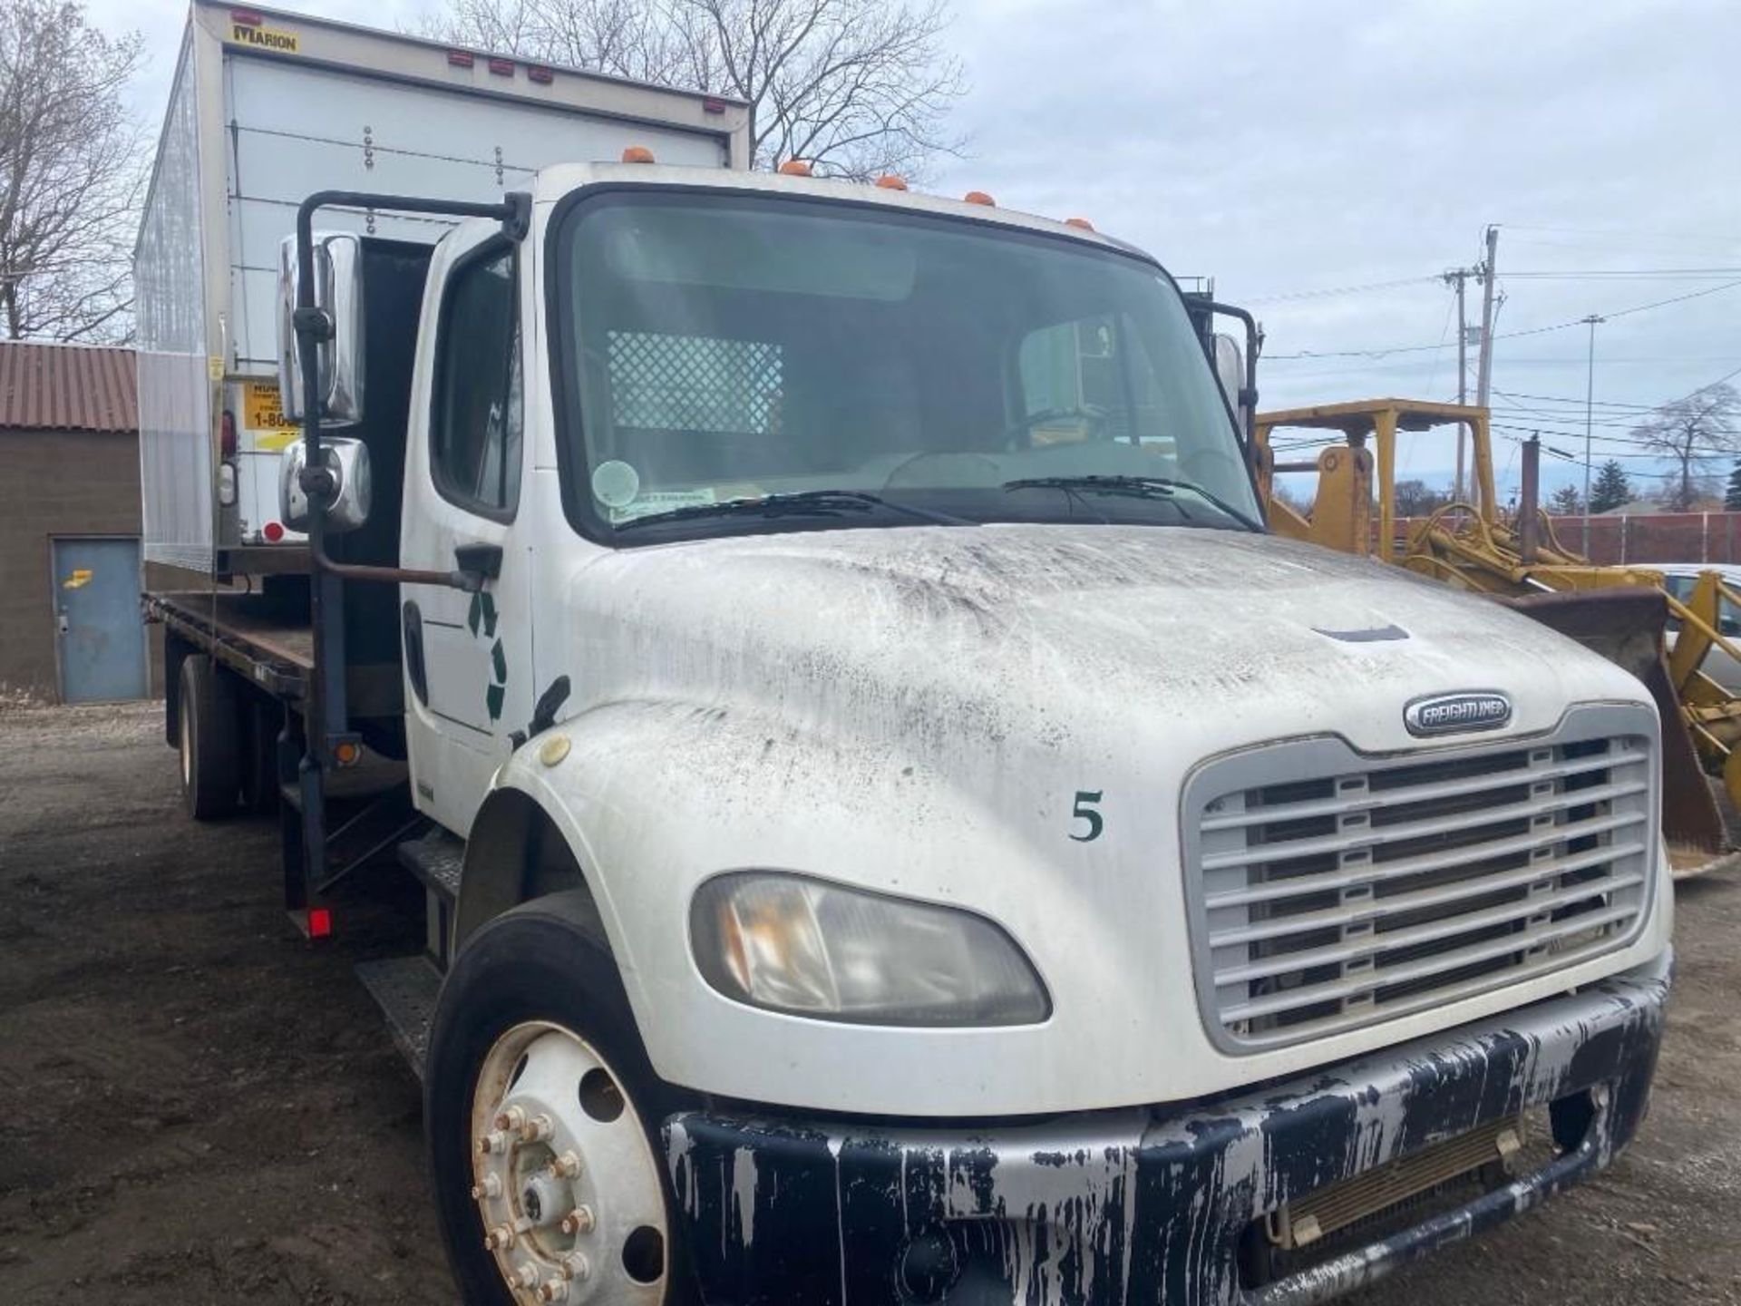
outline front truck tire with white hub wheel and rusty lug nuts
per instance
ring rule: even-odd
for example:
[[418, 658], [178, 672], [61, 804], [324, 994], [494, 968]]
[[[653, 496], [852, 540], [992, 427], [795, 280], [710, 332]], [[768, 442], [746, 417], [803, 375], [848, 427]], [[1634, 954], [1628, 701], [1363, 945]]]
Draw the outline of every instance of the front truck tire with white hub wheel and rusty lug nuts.
[[[479, 928], [442, 984], [423, 1069], [435, 1205], [468, 1306], [545, 1285], [601, 1306], [693, 1301], [658, 1135], [689, 1104], [653, 1073], [585, 892]], [[521, 1219], [533, 1228], [515, 1233]]]

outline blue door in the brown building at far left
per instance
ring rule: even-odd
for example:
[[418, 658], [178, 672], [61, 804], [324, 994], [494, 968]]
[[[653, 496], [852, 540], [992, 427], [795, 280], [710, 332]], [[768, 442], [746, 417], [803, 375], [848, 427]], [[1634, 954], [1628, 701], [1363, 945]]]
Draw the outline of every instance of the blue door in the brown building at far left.
[[139, 542], [50, 542], [61, 702], [145, 698]]

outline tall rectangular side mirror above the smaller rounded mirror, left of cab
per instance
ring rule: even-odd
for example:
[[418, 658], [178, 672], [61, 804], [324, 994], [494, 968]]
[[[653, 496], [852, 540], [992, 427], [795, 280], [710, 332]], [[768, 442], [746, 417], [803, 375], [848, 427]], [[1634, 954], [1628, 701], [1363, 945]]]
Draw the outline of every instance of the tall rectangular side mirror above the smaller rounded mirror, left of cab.
[[[362, 421], [362, 237], [315, 232], [315, 308], [333, 338], [315, 348], [320, 367], [320, 425]], [[296, 348], [296, 237], [279, 242], [279, 401], [303, 418], [303, 362]], [[286, 524], [289, 519], [286, 517]]]

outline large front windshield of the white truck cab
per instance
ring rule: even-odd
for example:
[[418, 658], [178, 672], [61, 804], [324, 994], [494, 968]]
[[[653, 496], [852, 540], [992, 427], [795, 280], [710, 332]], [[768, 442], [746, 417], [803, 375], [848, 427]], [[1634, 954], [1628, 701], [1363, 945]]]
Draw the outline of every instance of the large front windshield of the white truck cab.
[[1257, 528], [1184, 303], [1137, 258], [693, 192], [590, 197], [552, 244], [564, 495], [594, 538]]

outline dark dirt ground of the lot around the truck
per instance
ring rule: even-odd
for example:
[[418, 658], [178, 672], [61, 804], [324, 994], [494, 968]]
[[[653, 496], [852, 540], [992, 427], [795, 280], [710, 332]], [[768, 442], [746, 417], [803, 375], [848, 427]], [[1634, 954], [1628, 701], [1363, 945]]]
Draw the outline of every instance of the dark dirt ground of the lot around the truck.
[[[279, 893], [272, 822], [183, 817], [158, 707], [0, 709], [0, 1304], [454, 1301], [418, 1083], [350, 973], [421, 926], [346, 899], [306, 944]], [[1633, 1149], [1353, 1301], [1741, 1303], [1741, 876], [1677, 933]]]

